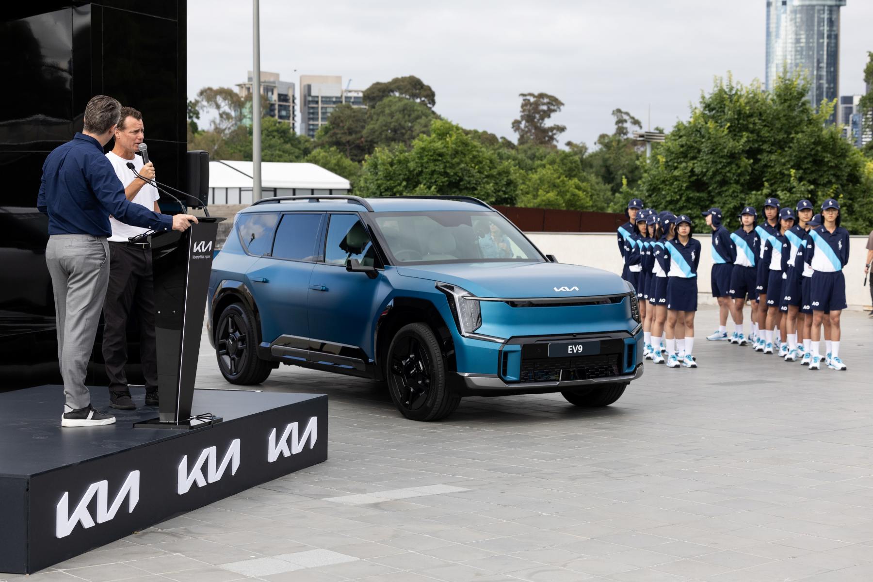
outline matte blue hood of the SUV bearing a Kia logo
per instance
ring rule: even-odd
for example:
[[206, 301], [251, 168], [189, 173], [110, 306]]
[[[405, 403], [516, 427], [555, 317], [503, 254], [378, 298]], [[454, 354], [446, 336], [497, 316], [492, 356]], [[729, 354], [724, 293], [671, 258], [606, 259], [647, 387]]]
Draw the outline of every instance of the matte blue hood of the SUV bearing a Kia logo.
[[398, 266], [397, 273], [463, 287], [477, 297], [559, 298], [628, 292], [607, 270], [560, 263], [464, 263]]

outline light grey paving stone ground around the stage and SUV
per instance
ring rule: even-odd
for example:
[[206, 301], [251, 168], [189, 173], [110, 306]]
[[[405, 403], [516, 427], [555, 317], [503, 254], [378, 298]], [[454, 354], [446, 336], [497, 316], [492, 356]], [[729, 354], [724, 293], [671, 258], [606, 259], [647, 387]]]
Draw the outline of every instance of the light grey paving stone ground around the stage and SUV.
[[[471, 398], [407, 421], [384, 387], [282, 366], [330, 396], [329, 459], [31, 576], [33, 582], [873, 579], [873, 321], [845, 372], [707, 342], [611, 407]], [[203, 339], [198, 387], [229, 388]], [[0, 574], [0, 579], [24, 577]]]

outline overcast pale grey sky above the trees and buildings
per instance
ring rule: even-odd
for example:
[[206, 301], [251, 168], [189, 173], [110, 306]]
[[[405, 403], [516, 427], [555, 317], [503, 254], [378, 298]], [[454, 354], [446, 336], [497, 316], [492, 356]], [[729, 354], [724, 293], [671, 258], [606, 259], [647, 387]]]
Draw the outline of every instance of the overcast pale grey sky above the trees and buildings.
[[[621, 107], [651, 127], [687, 119], [689, 104], [732, 72], [763, 81], [766, 0], [260, 0], [261, 70], [343, 85], [416, 75], [436, 112], [514, 140], [520, 92], [564, 110], [560, 142], [611, 132]], [[842, 8], [840, 94], [862, 93], [873, 51], [873, 1]], [[251, 2], [188, 1], [188, 92], [235, 86], [251, 70]], [[299, 112], [297, 113], [299, 122]]]

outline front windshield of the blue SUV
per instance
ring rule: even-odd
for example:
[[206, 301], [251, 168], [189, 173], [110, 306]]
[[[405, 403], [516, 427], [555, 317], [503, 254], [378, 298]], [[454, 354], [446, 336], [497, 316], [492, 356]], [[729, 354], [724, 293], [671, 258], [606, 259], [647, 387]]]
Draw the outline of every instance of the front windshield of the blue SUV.
[[380, 212], [375, 222], [394, 264], [543, 262], [496, 212]]

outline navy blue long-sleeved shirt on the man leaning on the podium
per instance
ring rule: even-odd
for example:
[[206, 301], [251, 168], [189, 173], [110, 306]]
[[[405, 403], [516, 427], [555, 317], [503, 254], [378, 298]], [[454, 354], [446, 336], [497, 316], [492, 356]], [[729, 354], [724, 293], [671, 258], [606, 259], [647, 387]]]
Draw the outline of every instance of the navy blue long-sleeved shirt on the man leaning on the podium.
[[85, 134], [45, 158], [37, 208], [49, 216], [49, 235], [110, 236], [109, 215], [146, 229], [173, 228], [171, 216], [127, 200], [100, 142]]

